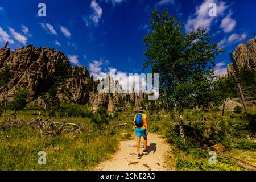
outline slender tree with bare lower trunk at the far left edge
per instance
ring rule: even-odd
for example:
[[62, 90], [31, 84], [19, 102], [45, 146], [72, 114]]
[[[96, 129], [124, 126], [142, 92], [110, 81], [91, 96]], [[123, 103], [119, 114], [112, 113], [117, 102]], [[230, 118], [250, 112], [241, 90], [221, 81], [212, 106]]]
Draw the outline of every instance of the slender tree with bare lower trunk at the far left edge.
[[6, 90], [6, 98], [5, 98], [5, 107], [3, 109], [3, 116], [5, 116], [6, 108], [7, 108], [7, 101], [8, 101], [8, 82], [11, 80], [11, 68], [9, 65], [5, 64], [3, 68], [0, 70], [0, 87], [4, 87]]

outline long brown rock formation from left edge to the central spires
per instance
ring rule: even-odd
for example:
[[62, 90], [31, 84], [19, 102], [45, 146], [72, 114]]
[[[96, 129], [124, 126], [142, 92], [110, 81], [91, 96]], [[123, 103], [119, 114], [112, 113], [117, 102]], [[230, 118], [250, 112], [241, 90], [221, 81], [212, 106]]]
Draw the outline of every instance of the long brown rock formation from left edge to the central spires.
[[[126, 93], [119, 82], [114, 81], [110, 76], [108, 83], [109, 88], [111, 88], [110, 83], [114, 85], [113, 92], [110, 92], [110, 89], [106, 93], [93, 91], [94, 89], [88, 86], [92, 80], [85, 67], [71, 67], [68, 58], [63, 53], [48, 47], [35, 48], [28, 45], [14, 52], [11, 52], [9, 48], [0, 48], [0, 69], [5, 64], [10, 66], [13, 75], [9, 82], [9, 101], [13, 100], [13, 94], [18, 88], [26, 88], [28, 101], [35, 101], [36, 104], [44, 107], [46, 103], [40, 94], [47, 94], [51, 86], [56, 86], [57, 97], [60, 101], [77, 104], [89, 102], [94, 111], [100, 105], [106, 107], [108, 112], [147, 106], [144, 103], [147, 97], [144, 90], [135, 93], [136, 90], [132, 88], [130, 94]], [[94, 81], [94, 85], [98, 82]], [[5, 92], [3, 88], [0, 88], [0, 101], [4, 98]]]

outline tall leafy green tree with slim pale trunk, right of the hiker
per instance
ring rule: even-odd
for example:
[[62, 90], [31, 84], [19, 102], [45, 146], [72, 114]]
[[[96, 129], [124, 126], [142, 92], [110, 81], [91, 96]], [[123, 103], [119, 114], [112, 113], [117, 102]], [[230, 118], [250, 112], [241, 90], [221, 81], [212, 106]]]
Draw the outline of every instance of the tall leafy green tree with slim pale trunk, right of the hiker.
[[168, 10], [151, 12], [151, 32], [143, 40], [146, 45], [144, 69], [159, 73], [160, 97], [179, 111], [180, 135], [184, 137], [184, 109], [204, 106], [205, 90], [211, 93], [214, 83], [214, 59], [222, 50], [210, 44], [207, 30], [184, 34], [184, 24]]

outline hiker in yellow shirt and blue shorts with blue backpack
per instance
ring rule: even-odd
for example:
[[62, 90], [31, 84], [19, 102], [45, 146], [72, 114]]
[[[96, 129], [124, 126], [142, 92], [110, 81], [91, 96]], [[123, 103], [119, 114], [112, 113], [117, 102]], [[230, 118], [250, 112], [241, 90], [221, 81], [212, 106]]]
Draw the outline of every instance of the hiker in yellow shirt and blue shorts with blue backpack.
[[139, 144], [141, 142], [141, 136], [144, 138], [144, 150], [143, 154], [148, 154], [146, 150], [147, 147], [147, 135], [148, 135], [148, 125], [146, 114], [143, 114], [143, 107], [138, 108], [138, 114], [134, 116], [134, 129], [137, 137], [137, 158], [141, 159], [141, 154], [139, 153]]

